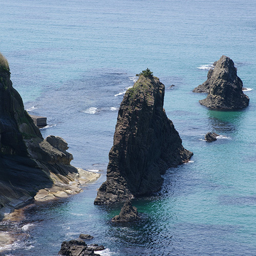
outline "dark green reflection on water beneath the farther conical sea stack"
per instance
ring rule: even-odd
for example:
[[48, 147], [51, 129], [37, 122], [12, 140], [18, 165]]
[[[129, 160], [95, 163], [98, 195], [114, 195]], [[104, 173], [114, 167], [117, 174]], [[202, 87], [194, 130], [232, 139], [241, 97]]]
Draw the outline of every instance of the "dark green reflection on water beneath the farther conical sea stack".
[[216, 111], [208, 110], [207, 116], [209, 127], [212, 131], [218, 132], [235, 132], [244, 118], [242, 111]]

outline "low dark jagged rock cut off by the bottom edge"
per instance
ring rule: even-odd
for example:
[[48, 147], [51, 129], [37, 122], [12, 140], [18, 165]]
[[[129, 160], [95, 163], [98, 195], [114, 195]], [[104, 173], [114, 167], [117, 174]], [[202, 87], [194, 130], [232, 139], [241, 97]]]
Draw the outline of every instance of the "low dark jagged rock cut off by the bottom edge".
[[62, 256], [100, 256], [94, 253], [93, 248], [89, 248], [82, 240], [71, 240], [62, 242], [59, 254]]

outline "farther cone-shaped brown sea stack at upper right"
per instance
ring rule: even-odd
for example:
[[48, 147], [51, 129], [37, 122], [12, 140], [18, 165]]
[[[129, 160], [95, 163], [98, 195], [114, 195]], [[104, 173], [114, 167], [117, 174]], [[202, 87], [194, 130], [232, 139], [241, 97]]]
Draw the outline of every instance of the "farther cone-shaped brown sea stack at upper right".
[[243, 82], [237, 76], [234, 62], [222, 56], [209, 79], [209, 93], [200, 104], [215, 110], [239, 110], [249, 104], [249, 98], [243, 91]]

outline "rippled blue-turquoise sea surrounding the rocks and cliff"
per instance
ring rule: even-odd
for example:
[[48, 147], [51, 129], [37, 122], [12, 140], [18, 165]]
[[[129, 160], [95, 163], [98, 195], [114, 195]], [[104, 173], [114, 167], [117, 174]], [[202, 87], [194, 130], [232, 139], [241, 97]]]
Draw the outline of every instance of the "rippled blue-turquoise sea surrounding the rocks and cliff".
[[[25, 109], [47, 116], [42, 135], [66, 139], [74, 166], [102, 174], [83, 193], [1, 223], [15, 237], [6, 255], [56, 256], [80, 233], [105, 246], [101, 255], [256, 255], [255, 0], [0, 0], [0, 7], [0, 51]], [[222, 55], [248, 88], [243, 111], [210, 111], [198, 102], [206, 95], [192, 93]], [[123, 94], [146, 68], [165, 84], [166, 114], [194, 156], [167, 170], [159, 193], [134, 201], [139, 223], [113, 224], [121, 206], [93, 201]], [[205, 142], [209, 131], [220, 138]]]

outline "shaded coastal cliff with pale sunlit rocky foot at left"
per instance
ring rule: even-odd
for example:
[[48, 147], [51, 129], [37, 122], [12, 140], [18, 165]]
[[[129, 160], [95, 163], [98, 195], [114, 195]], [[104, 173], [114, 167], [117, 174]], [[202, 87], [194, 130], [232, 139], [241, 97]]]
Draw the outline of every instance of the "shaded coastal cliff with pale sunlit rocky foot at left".
[[67, 142], [55, 136], [42, 138], [12, 87], [10, 74], [0, 53], [0, 209], [7, 204], [17, 208], [40, 189], [41, 198], [78, 193], [81, 189], [71, 184], [79, 179], [78, 169], [70, 165], [73, 157], [66, 152]]

